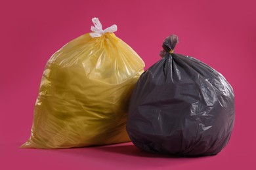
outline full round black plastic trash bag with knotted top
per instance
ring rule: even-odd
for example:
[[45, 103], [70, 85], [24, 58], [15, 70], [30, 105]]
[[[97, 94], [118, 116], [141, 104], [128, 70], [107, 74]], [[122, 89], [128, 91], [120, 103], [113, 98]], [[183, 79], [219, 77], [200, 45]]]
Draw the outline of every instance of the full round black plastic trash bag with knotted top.
[[175, 54], [176, 35], [163, 41], [160, 61], [146, 70], [129, 104], [127, 132], [138, 148], [178, 156], [208, 156], [228, 143], [234, 92], [198, 59]]

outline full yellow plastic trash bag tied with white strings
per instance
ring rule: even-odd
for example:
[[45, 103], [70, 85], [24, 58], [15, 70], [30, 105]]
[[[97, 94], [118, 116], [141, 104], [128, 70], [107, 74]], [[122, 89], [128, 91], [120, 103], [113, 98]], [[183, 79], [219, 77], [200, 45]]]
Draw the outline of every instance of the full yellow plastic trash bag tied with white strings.
[[22, 148], [72, 148], [130, 141], [129, 98], [144, 69], [138, 54], [93, 18], [93, 33], [68, 42], [47, 62], [30, 139]]

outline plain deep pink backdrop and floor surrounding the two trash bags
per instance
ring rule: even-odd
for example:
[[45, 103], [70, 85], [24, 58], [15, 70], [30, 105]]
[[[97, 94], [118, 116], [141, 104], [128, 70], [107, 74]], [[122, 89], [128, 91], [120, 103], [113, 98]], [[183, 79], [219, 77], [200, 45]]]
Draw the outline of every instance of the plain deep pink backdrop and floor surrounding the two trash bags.
[[[5, 1], [0, 5], [0, 169], [255, 169], [256, 1]], [[90, 32], [91, 18], [117, 24], [117, 37], [146, 63], [160, 59], [175, 33], [177, 53], [211, 65], [232, 84], [236, 122], [217, 156], [166, 158], [133, 144], [63, 150], [20, 149], [30, 136], [33, 105], [50, 56]]]

